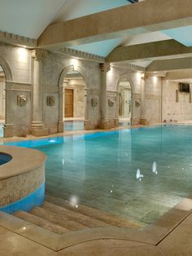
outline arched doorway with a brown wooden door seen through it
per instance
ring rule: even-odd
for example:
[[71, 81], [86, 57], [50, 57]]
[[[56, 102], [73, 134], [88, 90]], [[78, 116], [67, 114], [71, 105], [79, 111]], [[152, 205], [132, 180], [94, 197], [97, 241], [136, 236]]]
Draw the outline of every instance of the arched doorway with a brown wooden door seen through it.
[[84, 130], [85, 79], [76, 70], [63, 77], [64, 130]]

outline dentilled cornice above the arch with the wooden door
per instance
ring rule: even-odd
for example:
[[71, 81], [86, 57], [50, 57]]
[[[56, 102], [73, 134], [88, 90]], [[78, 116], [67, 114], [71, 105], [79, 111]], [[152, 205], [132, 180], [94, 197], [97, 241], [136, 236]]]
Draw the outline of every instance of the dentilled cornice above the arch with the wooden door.
[[98, 63], [105, 63], [105, 58], [99, 55], [93, 55], [85, 51], [77, 51], [71, 48], [59, 48], [59, 50], [55, 51], [56, 53], [60, 53], [63, 55], [69, 55], [72, 57], [78, 57], [82, 60], [92, 60]]

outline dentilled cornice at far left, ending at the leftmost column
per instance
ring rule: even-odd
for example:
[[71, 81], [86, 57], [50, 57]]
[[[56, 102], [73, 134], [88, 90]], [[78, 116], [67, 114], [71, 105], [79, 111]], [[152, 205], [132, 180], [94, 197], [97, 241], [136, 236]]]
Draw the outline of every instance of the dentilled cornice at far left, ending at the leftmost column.
[[26, 46], [27, 48], [36, 48], [37, 40], [32, 38], [25, 38], [14, 33], [7, 33], [0, 31], [0, 42], [11, 44], [14, 46]]

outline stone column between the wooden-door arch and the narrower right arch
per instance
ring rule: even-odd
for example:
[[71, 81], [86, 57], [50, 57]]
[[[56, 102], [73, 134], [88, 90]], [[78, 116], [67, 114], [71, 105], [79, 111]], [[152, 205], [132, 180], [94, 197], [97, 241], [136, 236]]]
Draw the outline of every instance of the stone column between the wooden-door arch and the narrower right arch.
[[109, 64], [100, 64], [101, 70], [101, 122], [99, 124], [100, 129], [111, 129], [111, 125], [107, 119], [107, 72], [110, 71]]

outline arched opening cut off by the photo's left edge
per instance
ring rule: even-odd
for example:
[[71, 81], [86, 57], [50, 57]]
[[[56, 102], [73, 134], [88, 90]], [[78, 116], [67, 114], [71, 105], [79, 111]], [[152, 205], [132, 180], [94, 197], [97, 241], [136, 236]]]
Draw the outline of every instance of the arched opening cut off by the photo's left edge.
[[0, 137], [3, 137], [3, 126], [6, 118], [6, 74], [0, 65]]

